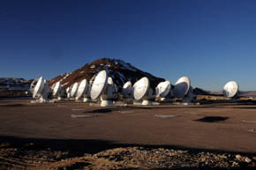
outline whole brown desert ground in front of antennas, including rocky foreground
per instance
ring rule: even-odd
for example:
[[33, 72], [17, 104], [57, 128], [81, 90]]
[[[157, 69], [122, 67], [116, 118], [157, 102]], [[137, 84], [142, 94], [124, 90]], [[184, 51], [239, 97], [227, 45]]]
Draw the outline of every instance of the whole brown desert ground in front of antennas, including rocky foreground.
[[0, 100], [0, 169], [256, 169], [256, 105]]

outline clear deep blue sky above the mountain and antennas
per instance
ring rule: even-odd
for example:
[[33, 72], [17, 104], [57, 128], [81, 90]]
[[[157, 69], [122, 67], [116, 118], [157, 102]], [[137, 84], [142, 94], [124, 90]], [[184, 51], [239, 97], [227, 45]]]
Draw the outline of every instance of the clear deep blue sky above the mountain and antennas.
[[2, 0], [0, 77], [54, 78], [101, 57], [220, 91], [256, 90], [256, 1]]

